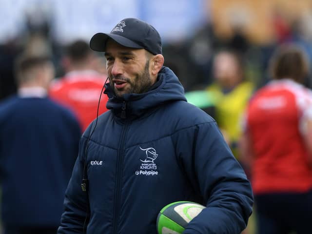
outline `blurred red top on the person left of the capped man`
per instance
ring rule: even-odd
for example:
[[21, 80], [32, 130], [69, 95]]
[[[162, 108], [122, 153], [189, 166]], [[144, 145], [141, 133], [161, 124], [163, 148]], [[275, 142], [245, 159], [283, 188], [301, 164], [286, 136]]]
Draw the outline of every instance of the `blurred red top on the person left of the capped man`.
[[[71, 72], [51, 85], [49, 95], [76, 114], [84, 131], [97, 117], [98, 99], [105, 79], [94, 71]], [[107, 111], [107, 100], [108, 97], [102, 94], [98, 115]]]

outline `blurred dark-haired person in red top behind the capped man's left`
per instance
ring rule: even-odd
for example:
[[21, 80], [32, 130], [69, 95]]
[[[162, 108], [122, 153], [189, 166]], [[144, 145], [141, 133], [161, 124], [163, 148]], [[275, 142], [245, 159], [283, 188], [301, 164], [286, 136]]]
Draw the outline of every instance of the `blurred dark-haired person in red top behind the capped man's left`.
[[[76, 114], [84, 131], [97, 117], [98, 100], [106, 76], [96, 71], [98, 58], [83, 40], [68, 46], [63, 63], [67, 73], [52, 83], [50, 96]], [[107, 111], [107, 100], [106, 95], [101, 96], [99, 114]]]

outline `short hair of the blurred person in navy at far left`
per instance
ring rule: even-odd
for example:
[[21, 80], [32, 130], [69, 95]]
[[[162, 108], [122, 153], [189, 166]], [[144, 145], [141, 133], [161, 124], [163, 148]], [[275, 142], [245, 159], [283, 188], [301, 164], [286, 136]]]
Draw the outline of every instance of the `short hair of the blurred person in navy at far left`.
[[21, 55], [15, 63], [15, 76], [18, 83], [30, 81], [34, 77], [26, 74], [34, 68], [43, 67], [51, 62], [48, 56], [27, 56]]

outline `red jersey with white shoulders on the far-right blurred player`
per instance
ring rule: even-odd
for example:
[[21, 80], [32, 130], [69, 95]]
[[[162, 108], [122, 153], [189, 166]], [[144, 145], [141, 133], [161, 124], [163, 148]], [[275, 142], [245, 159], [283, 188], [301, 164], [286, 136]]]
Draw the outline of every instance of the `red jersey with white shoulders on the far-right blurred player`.
[[254, 95], [246, 130], [254, 151], [255, 194], [312, 188], [312, 168], [302, 138], [311, 113], [311, 91], [289, 79], [272, 81]]

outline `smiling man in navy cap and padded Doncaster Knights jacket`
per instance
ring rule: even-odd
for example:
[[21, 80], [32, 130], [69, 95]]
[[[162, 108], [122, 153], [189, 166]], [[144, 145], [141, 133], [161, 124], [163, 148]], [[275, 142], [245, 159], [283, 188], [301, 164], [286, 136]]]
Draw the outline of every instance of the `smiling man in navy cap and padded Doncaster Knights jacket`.
[[124, 19], [90, 46], [105, 52], [110, 110], [81, 139], [58, 233], [156, 234], [159, 211], [188, 200], [207, 209], [185, 234], [239, 234], [252, 213], [250, 183], [215, 121], [163, 67], [156, 29]]

